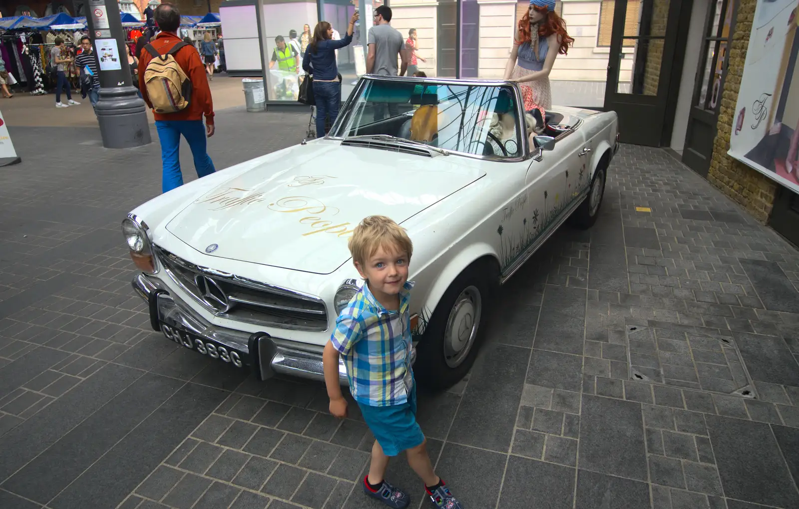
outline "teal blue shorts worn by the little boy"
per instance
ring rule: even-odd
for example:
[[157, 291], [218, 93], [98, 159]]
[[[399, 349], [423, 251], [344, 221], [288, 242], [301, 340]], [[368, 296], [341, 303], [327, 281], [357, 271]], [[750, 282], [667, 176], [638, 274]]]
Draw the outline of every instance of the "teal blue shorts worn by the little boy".
[[405, 403], [384, 407], [359, 403], [358, 407], [386, 456], [397, 456], [424, 441], [422, 428], [416, 422], [416, 384]]

